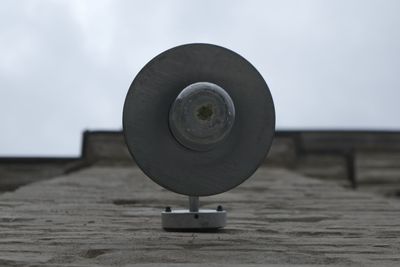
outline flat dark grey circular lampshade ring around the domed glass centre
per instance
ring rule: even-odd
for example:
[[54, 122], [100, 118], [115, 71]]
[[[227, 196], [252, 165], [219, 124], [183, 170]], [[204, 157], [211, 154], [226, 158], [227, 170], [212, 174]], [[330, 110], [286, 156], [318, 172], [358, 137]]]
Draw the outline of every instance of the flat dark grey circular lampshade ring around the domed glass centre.
[[[228, 136], [213, 149], [195, 151], [171, 133], [169, 112], [190, 84], [223, 88], [235, 106]], [[263, 162], [275, 131], [271, 93], [243, 57], [220, 46], [187, 44], [153, 58], [136, 76], [125, 99], [124, 136], [138, 166], [173, 192], [207, 196], [249, 178]]]

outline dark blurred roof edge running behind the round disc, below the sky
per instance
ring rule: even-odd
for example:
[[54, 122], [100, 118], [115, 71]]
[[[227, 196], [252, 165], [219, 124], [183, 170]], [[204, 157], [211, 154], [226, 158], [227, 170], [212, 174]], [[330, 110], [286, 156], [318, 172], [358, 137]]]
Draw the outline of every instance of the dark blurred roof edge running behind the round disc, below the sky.
[[[85, 131], [82, 143], [76, 159], [0, 158], [0, 190], [92, 164], [135, 164], [120, 131]], [[277, 131], [265, 164], [400, 195], [400, 132]]]

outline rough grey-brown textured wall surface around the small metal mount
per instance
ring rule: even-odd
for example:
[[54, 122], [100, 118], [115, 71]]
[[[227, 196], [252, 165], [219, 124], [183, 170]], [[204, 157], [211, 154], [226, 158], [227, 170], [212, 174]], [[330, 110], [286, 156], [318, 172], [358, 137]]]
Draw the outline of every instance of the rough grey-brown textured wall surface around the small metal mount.
[[266, 168], [201, 200], [227, 209], [226, 229], [160, 229], [160, 210], [186, 198], [134, 167], [92, 166], [23, 186], [0, 196], [0, 265], [400, 265], [395, 200]]

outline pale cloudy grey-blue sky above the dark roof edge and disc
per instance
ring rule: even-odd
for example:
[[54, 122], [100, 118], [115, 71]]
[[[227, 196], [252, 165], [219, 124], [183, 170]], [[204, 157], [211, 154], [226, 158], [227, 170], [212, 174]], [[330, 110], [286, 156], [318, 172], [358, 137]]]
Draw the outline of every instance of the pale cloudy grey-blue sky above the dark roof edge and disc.
[[208, 42], [267, 81], [278, 129], [400, 129], [400, 1], [0, 3], [0, 155], [78, 155], [121, 129], [125, 94], [160, 52]]

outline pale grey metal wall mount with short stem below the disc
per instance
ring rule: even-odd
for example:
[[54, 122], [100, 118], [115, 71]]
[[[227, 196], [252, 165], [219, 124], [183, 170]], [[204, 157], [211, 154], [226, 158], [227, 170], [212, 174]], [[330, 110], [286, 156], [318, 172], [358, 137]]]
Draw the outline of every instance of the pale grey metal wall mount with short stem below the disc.
[[226, 211], [199, 209], [199, 197], [189, 196], [189, 209], [172, 210], [166, 207], [161, 212], [162, 227], [166, 230], [216, 230], [226, 225]]

